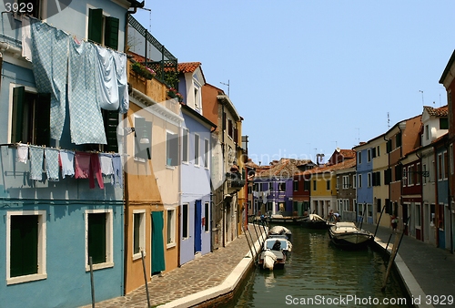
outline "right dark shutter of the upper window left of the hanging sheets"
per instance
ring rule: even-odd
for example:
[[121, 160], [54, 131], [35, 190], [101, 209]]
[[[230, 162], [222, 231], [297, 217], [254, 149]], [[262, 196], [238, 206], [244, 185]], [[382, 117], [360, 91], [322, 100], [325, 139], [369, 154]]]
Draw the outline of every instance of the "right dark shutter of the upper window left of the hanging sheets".
[[50, 146], [51, 139], [51, 95], [38, 93], [35, 107], [35, 144]]

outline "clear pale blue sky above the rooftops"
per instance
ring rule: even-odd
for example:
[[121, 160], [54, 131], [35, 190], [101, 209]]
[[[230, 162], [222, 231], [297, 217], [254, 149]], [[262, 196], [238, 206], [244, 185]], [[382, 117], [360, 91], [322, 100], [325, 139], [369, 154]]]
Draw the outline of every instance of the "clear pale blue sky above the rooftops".
[[[248, 156], [312, 159], [352, 149], [423, 106], [447, 104], [455, 1], [146, 0], [134, 17], [201, 62], [244, 118]], [[229, 84], [227, 87], [226, 84]]]

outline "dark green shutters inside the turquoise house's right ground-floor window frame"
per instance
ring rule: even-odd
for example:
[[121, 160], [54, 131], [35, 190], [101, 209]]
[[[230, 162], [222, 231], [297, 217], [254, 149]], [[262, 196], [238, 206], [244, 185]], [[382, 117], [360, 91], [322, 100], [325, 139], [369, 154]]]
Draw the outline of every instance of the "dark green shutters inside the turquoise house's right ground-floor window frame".
[[94, 264], [106, 262], [106, 213], [88, 214], [88, 257]]

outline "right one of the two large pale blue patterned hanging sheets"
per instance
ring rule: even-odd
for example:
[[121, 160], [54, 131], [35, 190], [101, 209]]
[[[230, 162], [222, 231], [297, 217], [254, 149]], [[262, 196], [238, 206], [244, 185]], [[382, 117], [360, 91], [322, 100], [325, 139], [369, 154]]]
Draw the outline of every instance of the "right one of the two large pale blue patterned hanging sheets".
[[73, 143], [106, 144], [106, 133], [97, 101], [96, 47], [84, 41], [70, 41], [68, 106]]

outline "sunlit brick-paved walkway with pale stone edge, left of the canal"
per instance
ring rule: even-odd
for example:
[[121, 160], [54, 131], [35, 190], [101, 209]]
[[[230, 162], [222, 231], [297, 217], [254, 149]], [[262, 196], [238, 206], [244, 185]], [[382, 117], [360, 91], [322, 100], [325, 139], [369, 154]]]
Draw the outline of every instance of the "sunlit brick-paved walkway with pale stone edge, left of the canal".
[[[258, 239], [253, 228], [250, 227], [251, 236], [256, 242]], [[249, 236], [248, 241], [251, 242]], [[242, 264], [241, 267], [248, 267], [251, 262], [251, 257], [248, 255], [250, 252], [248, 241], [247, 236], [242, 234], [238, 239], [229, 242], [226, 247], [187, 262], [182, 267], [165, 273], [162, 277], [152, 276], [151, 282], [148, 282], [150, 305], [155, 307], [167, 303], [166, 306], [178, 307], [182, 306], [180, 302], [197, 303], [198, 297], [194, 296], [197, 293], [206, 292], [205, 298], [207, 298], [207, 291], [222, 294], [226, 288], [217, 289], [217, 287], [228, 280], [231, 273], [233, 276], [239, 276], [242, 272], [242, 269], [238, 272], [240, 264]], [[230, 281], [237, 283], [235, 277]], [[176, 303], [174, 304], [174, 302]], [[190, 305], [184, 304], [183, 306]], [[84, 308], [89, 307], [91, 305], [84, 306]], [[146, 288], [142, 286], [125, 296], [96, 303], [96, 307], [147, 307]]]

